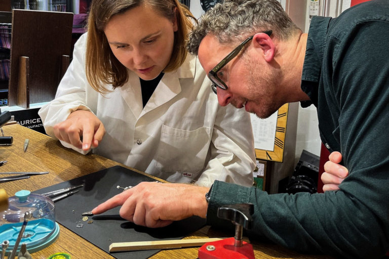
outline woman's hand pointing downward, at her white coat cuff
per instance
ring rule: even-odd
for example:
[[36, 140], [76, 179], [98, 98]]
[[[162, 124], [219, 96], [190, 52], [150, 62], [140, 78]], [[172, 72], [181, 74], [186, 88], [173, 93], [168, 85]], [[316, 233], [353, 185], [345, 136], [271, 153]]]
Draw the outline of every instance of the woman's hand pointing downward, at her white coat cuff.
[[73, 111], [65, 121], [54, 125], [57, 139], [85, 151], [97, 147], [104, 134], [103, 123], [90, 111]]

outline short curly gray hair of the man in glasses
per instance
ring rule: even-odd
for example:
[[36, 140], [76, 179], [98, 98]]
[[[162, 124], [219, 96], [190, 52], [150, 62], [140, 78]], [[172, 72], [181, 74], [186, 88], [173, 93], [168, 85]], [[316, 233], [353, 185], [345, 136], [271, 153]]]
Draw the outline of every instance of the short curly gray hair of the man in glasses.
[[232, 44], [266, 30], [273, 30], [272, 35], [280, 40], [301, 33], [277, 0], [225, 0], [200, 18], [189, 33], [186, 47], [197, 55], [207, 34], [216, 36], [221, 44]]

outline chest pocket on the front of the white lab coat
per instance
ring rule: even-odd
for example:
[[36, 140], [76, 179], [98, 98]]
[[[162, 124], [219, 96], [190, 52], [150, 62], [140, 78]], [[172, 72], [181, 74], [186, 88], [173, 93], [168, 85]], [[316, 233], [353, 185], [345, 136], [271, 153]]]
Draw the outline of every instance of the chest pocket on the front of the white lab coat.
[[[186, 131], [163, 125], [156, 156], [157, 168], [162, 173], [161, 177], [171, 179], [169, 172], [175, 174], [176, 177], [182, 177], [182, 174], [177, 173], [197, 174], [203, 170], [210, 140], [211, 128], [209, 127]], [[190, 177], [196, 178], [195, 175], [190, 175]]]

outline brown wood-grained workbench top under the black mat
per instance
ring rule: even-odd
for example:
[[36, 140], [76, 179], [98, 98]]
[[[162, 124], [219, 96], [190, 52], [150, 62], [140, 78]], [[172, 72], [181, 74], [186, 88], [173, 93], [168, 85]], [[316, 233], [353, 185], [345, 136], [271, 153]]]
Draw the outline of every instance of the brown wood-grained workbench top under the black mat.
[[[110, 159], [89, 154], [81, 155], [75, 151], [64, 148], [59, 141], [47, 135], [35, 132], [18, 124], [6, 125], [3, 127], [5, 136], [12, 136], [14, 142], [11, 146], [0, 147], [0, 160], [8, 160], [8, 163], [0, 167], [1, 172], [5, 171], [50, 171], [50, 174], [31, 177], [29, 179], [13, 182], [0, 183], [8, 195], [13, 196], [15, 192], [25, 189], [35, 191], [57, 183], [81, 177], [92, 172], [102, 170], [121, 163]], [[27, 151], [23, 151], [24, 140], [29, 139]], [[142, 172], [130, 168], [143, 174]], [[231, 233], [230, 236], [233, 236]], [[209, 227], [205, 227], [193, 236], [187, 238], [218, 237], [218, 233]], [[0, 240], [3, 241], [3, 240]], [[282, 259], [332, 259], [325, 255], [299, 254], [279, 245], [263, 243], [251, 240], [256, 258]], [[114, 258], [105, 251], [96, 247], [87, 240], [77, 236], [70, 230], [60, 225], [60, 235], [50, 246], [32, 253], [34, 259], [46, 259], [51, 254], [66, 252], [72, 259], [93, 258], [108, 259]], [[198, 248], [162, 250], [153, 255], [153, 259], [161, 258], [197, 258]]]

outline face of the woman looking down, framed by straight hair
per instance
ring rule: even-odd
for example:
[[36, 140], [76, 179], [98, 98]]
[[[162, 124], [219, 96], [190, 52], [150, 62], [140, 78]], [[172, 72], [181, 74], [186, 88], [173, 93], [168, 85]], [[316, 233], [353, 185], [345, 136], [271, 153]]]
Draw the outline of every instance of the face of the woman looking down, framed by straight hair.
[[151, 80], [168, 65], [177, 29], [177, 19], [142, 5], [113, 16], [104, 33], [120, 63], [143, 80]]

